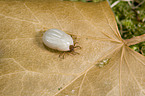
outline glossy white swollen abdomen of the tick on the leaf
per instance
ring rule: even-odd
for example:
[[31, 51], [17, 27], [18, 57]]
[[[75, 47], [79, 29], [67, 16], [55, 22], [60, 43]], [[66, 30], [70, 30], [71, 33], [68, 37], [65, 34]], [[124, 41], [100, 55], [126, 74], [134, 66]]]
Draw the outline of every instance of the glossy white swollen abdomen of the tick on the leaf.
[[70, 51], [70, 45], [74, 45], [70, 35], [58, 29], [49, 29], [43, 34], [44, 44], [59, 51]]

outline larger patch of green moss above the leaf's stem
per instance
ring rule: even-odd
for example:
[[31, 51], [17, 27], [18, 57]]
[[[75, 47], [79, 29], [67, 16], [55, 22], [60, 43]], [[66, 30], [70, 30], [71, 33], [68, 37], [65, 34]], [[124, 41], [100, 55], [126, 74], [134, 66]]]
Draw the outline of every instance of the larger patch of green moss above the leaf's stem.
[[[115, 1], [116, 0], [111, 0], [111, 4]], [[137, 7], [136, 5], [140, 3], [141, 1], [134, 2], [132, 6], [130, 6], [128, 2], [121, 1], [112, 8], [116, 15], [116, 19], [120, 22], [118, 26], [123, 39], [145, 34], [145, 4], [141, 4]]]

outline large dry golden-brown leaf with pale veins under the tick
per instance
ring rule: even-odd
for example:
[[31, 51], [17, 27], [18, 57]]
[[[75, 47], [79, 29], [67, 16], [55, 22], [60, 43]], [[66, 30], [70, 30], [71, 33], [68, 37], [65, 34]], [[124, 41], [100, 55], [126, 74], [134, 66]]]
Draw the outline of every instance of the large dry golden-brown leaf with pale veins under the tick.
[[[55, 1], [0, 1], [0, 96], [145, 96], [145, 57], [124, 44], [109, 4]], [[46, 48], [50, 28], [77, 36], [80, 55]]]

